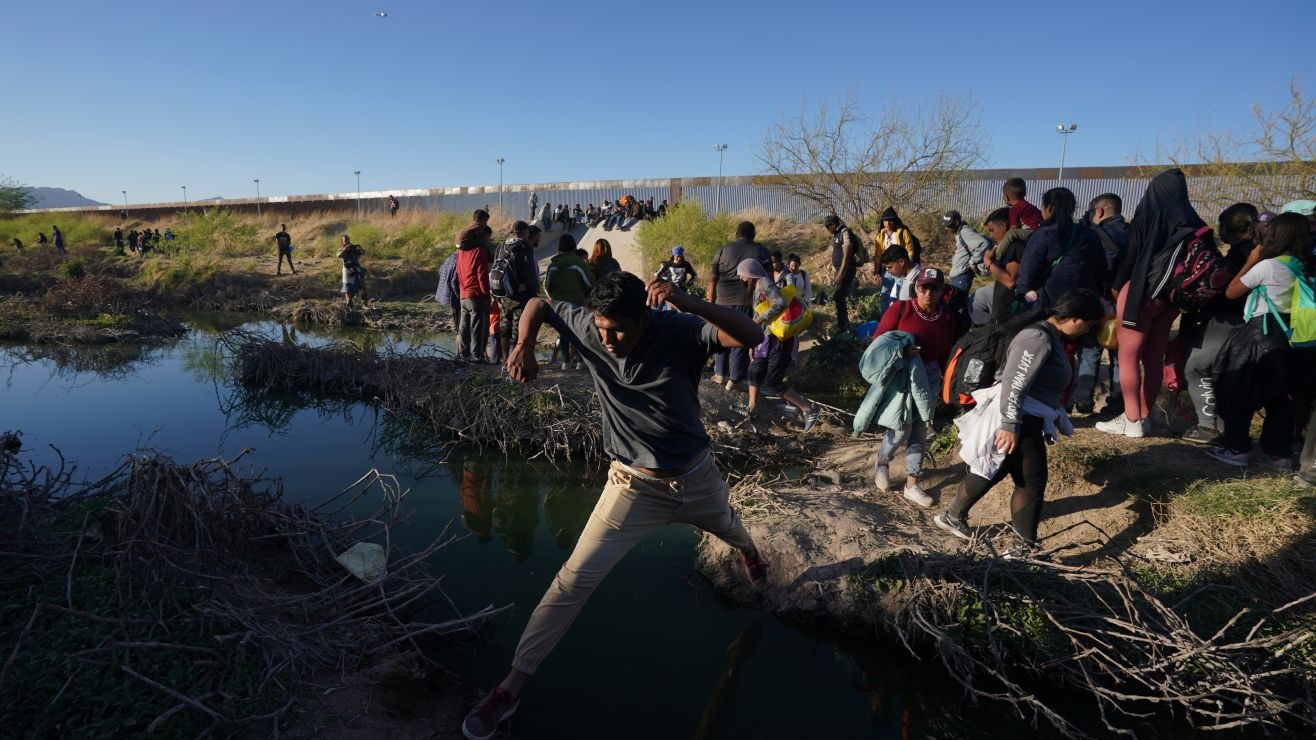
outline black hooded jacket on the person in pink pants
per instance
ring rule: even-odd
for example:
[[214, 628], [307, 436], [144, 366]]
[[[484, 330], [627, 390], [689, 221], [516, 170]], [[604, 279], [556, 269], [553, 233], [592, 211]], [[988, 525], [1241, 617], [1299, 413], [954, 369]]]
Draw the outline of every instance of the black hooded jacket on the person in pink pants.
[[1178, 167], [1152, 178], [1133, 215], [1129, 248], [1115, 273], [1112, 287], [1129, 286], [1120, 323], [1141, 330], [1142, 307], [1165, 291], [1174, 258], [1183, 241], [1207, 225], [1188, 201], [1188, 183]]

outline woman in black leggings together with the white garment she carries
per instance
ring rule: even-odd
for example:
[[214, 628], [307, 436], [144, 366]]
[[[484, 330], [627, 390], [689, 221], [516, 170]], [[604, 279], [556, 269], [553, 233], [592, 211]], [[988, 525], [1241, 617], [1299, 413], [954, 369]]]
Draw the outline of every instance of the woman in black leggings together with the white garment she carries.
[[[969, 474], [955, 499], [933, 517], [937, 527], [961, 540], [973, 540], [969, 510], [1008, 474], [1015, 481], [1009, 511], [1017, 548], [1007, 557], [1026, 557], [1037, 546], [1046, 492], [1046, 442], [1057, 431], [1073, 435], [1065, 415], [1065, 388], [1074, 374], [1065, 342], [1082, 338], [1105, 317], [1096, 292], [1078, 290], [1040, 313], [1015, 317], [1005, 361], [996, 371], [996, 384], [974, 394], [976, 406], [955, 420], [959, 457]], [[1008, 336], [1008, 334], [1007, 334]]]

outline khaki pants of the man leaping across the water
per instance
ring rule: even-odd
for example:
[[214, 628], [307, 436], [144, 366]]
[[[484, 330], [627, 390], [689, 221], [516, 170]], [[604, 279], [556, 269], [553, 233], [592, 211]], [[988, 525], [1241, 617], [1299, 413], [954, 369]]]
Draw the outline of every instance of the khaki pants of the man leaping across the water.
[[672, 523], [692, 524], [736, 549], [754, 546], [732, 511], [729, 492], [712, 453], [675, 478], [632, 474], [613, 462], [580, 541], [521, 633], [512, 668], [533, 674], [612, 566], [655, 529]]

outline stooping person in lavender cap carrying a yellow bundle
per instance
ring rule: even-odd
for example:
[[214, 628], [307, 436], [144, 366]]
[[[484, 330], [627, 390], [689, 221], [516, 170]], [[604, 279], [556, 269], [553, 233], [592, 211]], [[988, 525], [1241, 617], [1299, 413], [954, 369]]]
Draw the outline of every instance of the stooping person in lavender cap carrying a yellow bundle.
[[[800, 410], [804, 431], [808, 432], [817, 424], [819, 411], [799, 391], [786, 383], [786, 374], [795, 361], [795, 348], [800, 337], [782, 340], [767, 330], [767, 327], [786, 311], [787, 300], [758, 259], [741, 259], [740, 265], [736, 266], [736, 275], [754, 296], [754, 320], [763, 327], [763, 341], [754, 349], [754, 357], [749, 363], [747, 416], [753, 419], [758, 413], [758, 399], [763, 392], [778, 395], [782, 396], [782, 400]], [[765, 303], [767, 307], [759, 311], [757, 307]]]

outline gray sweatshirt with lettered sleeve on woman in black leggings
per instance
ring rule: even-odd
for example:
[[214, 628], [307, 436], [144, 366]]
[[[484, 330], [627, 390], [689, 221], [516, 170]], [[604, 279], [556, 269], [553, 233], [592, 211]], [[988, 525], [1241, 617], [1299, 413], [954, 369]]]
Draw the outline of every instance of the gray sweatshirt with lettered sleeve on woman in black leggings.
[[1046, 321], [1025, 327], [1009, 342], [1005, 362], [996, 371], [1001, 383], [1000, 428], [1019, 432], [1020, 408], [1028, 396], [1059, 408], [1073, 374], [1059, 332]]

